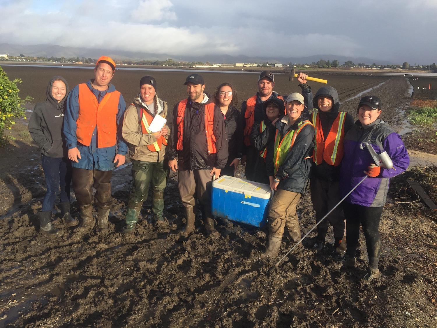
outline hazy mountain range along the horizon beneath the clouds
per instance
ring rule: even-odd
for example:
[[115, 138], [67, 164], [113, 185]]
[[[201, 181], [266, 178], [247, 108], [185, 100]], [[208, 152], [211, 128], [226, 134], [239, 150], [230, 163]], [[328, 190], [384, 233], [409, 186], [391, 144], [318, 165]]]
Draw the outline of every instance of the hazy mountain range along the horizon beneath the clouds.
[[340, 64], [351, 60], [354, 63], [366, 63], [377, 65], [397, 64], [392, 63], [389, 60], [371, 59], [365, 57], [350, 57], [339, 55], [314, 55], [308, 57], [281, 57], [281, 56], [230, 56], [230, 55], [217, 55], [206, 54], [204, 56], [178, 56], [170, 54], [158, 54], [147, 52], [133, 52], [123, 50], [111, 50], [111, 49], [89, 49], [89, 48], [75, 48], [75, 47], [62, 47], [60, 45], [11, 45], [8, 43], [0, 44], [0, 54], [9, 54], [10, 56], [42, 56], [42, 57], [79, 57], [79, 58], [99, 58], [103, 54], [110, 56], [114, 59], [121, 60], [165, 60], [172, 58], [177, 61], [187, 62], [210, 62], [210, 63], [312, 63], [318, 62], [320, 59], [333, 60], [337, 59]]

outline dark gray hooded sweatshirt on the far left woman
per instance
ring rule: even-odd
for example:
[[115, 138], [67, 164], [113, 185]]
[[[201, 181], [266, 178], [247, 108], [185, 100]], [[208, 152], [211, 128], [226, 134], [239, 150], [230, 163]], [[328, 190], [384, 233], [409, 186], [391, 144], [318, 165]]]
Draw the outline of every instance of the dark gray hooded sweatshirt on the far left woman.
[[[58, 102], [52, 95], [55, 80], [65, 83], [65, 97]], [[47, 157], [67, 157], [67, 147], [62, 134], [64, 122], [64, 105], [69, 93], [67, 81], [60, 76], [52, 77], [46, 90], [46, 99], [35, 105], [29, 120], [29, 133], [38, 144], [41, 154]]]

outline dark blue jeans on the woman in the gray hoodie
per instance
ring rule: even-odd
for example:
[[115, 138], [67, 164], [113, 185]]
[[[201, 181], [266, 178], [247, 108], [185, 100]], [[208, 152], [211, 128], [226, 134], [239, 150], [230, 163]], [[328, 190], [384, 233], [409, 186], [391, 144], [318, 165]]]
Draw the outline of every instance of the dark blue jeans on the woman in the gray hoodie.
[[42, 169], [45, 175], [47, 193], [42, 201], [42, 211], [51, 211], [55, 204], [56, 194], [61, 189], [61, 202], [70, 202], [71, 164], [68, 158], [52, 158], [42, 156]]

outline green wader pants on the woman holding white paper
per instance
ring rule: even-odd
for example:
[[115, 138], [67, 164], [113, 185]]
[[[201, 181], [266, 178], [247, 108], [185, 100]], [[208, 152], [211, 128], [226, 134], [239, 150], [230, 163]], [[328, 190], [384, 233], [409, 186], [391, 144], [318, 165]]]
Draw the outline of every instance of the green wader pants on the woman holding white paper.
[[157, 217], [163, 216], [164, 189], [166, 187], [168, 164], [164, 161], [146, 162], [132, 160], [132, 191], [128, 208], [141, 209], [152, 186], [152, 211]]

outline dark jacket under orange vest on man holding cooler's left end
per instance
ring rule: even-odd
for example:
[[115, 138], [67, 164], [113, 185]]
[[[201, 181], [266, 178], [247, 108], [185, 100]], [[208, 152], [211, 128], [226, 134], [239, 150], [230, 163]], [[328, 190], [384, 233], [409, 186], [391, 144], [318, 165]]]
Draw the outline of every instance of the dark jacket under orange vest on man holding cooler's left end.
[[[204, 94], [208, 97], [208, 94]], [[182, 150], [176, 150], [177, 145], [177, 110], [179, 102], [169, 113], [167, 124], [171, 134], [167, 146], [169, 160], [176, 157], [179, 170], [211, 170], [212, 167], [222, 169], [228, 160], [228, 140], [226, 137], [225, 121], [220, 108], [214, 108], [213, 134], [215, 136], [216, 152], [208, 154], [205, 136], [205, 105], [212, 103], [210, 97], [204, 103], [193, 102], [188, 99], [184, 112], [184, 135]]]

